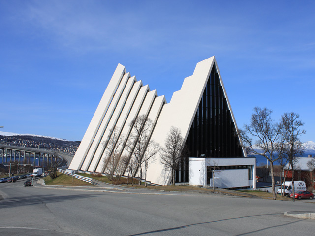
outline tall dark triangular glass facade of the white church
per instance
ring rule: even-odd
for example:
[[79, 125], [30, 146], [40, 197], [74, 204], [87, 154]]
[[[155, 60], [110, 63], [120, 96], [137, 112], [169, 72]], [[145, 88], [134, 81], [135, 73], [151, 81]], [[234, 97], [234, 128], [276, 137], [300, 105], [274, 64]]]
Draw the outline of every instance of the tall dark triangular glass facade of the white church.
[[[191, 124], [186, 147], [190, 157], [244, 157], [235, 125], [228, 109], [216, 66], [208, 78]], [[183, 160], [176, 182], [188, 181], [188, 156]]]

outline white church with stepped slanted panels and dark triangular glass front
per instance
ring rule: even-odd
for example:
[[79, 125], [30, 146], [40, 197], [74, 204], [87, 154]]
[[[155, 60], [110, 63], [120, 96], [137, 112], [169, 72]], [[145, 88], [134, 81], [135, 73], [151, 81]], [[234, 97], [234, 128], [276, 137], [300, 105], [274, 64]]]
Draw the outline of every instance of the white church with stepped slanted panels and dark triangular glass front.
[[[69, 169], [104, 173], [105, 146], [112, 130], [124, 137], [119, 151], [126, 154], [130, 123], [142, 115], [152, 120], [150, 139], [161, 146], [172, 126], [181, 130], [189, 156], [176, 171], [176, 183], [212, 186], [215, 174], [217, 187], [255, 188], [255, 158], [248, 158], [240, 145], [215, 57], [197, 63], [169, 103], [118, 64]], [[214, 165], [220, 171], [213, 173]], [[172, 181], [159, 155], [149, 165], [147, 181], [159, 185]]]

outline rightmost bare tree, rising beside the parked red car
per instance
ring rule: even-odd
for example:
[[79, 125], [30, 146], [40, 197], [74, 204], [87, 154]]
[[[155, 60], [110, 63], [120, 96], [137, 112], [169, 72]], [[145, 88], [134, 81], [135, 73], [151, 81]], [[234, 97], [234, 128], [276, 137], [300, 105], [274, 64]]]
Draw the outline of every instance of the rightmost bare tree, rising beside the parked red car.
[[286, 140], [284, 144], [284, 152], [288, 155], [289, 163], [292, 168], [292, 192], [293, 192], [293, 201], [295, 201], [294, 196], [294, 158], [303, 155], [304, 148], [302, 142], [300, 141], [300, 136], [305, 134], [306, 131], [301, 127], [304, 126], [304, 123], [299, 120], [300, 115], [294, 112], [284, 113], [284, 116], [281, 117], [282, 123], [284, 126], [283, 136]]

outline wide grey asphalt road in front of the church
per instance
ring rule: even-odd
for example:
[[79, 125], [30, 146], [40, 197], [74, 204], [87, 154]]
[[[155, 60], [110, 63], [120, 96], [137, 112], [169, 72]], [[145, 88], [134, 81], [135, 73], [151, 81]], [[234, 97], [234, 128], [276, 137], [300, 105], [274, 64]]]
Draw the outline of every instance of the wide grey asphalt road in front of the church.
[[23, 182], [0, 184], [0, 236], [314, 235], [315, 220], [284, 212], [315, 211], [315, 199], [23, 187]]

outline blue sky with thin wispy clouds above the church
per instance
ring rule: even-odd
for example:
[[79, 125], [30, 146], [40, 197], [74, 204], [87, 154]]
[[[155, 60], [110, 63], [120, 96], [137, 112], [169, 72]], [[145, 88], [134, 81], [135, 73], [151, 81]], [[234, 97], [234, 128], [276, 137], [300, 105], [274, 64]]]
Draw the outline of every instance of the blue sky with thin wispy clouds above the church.
[[169, 102], [216, 56], [241, 128], [296, 112], [315, 140], [315, 1], [0, 1], [0, 131], [81, 140], [118, 63]]

